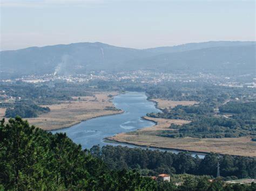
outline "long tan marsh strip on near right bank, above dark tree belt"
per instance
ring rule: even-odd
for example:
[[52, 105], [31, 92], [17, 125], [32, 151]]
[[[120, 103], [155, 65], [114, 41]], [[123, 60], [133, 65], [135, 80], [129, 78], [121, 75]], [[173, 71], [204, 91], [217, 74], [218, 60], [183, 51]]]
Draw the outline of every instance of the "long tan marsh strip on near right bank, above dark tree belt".
[[129, 135], [120, 133], [109, 138], [122, 143], [130, 143], [140, 146], [152, 146], [159, 148], [172, 148], [194, 152], [215, 152], [220, 154], [242, 155], [256, 157], [256, 143], [250, 137], [239, 138], [168, 138], [139, 133], [139, 135]]

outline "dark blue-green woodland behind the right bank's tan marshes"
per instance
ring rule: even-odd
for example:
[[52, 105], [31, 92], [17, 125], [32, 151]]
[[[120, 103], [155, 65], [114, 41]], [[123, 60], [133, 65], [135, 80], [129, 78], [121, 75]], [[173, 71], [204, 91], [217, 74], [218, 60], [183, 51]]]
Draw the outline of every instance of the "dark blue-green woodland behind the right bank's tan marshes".
[[[196, 105], [177, 105], [157, 114], [147, 114], [150, 117], [192, 121], [181, 126], [172, 124], [170, 128], [174, 131], [160, 131], [159, 136], [224, 138], [256, 135], [256, 102], [252, 96], [254, 91], [251, 89], [212, 86], [178, 90], [174, 86], [174, 88], [152, 88], [147, 93], [151, 97], [200, 101]], [[239, 101], [231, 101], [238, 97]], [[229, 117], [226, 116], [227, 114]]]

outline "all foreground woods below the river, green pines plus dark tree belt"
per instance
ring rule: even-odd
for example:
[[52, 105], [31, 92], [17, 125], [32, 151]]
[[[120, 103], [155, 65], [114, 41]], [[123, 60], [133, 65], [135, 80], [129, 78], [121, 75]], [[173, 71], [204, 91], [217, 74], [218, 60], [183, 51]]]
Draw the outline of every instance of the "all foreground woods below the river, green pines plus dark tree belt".
[[[179, 186], [174, 184], [174, 173], [211, 175], [217, 160], [214, 154], [201, 160], [186, 153], [127, 147], [95, 146], [83, 151], [65, 134], [52, 135], [20, 117], [0, 123], [0, 190], [255, 190], [255, 183], [224, 184], [221, 178], [209, 181], [212, 176], [206, 175], [185, 174], [178, 179]], [[226, 166], [223, 175], [255, 178], [255, 159], [226, 155], [221, 161]], [[171, 182], [142, 176], [142, 170], [166, 171], [172, 175]]]

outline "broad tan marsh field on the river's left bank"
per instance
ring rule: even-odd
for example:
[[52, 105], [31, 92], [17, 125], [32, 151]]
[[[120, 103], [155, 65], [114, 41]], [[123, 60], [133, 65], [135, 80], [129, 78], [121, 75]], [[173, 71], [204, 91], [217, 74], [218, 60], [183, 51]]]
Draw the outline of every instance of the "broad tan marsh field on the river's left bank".
[[50, 112], [39, 115], [37, 118], [25, 118], [30, 124], [44, 130], [68, 128], [87, 119], [120, 114], [122, 111], [104, 110], [114, 107], [108, 95], [117, 95], [117, 92], [96, 93], [95, 96], [73, 97], [75, 101], [65, 101], [60, 104], [43, 105], [49, 107]]

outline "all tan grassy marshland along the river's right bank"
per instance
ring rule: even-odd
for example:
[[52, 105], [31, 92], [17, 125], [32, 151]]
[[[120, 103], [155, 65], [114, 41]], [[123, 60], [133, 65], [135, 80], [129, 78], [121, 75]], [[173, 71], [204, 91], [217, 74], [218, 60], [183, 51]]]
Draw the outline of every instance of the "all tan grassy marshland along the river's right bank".
[[[160, 109], [174, 107], [177, 104], [197, 104], [197, 102], [173, 102], [163, 101], [159, 99], [150, 100], [157, 104]], [[183, 102], [183, 103], [182, 103]], [[147, 146], [179, 151], [190, 151], [198, 153], [218, 153], [218, 154], [231, 154], [241, 155], [247, 157], [256, 157], [256, 143], [252, 142], [251, 137], [239, 138], [170, 138], [158, 136], [158, 132], [162, 130], [170, 130], [170, 125], [182, 125], [190, 123], [190, 121], [180, 119], [165, 119], [165, 118], [152, 118], [143, 117], [146, 120], [156, 123], [150, 128], [143, 128], [132, 132], [119, 133], [115, 136], [106, 138], [118, 143], [132, 144], [137, 146]]]

